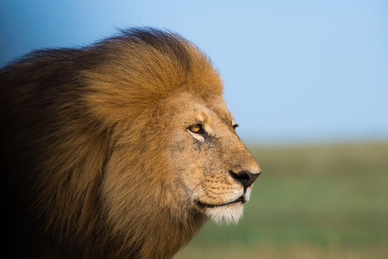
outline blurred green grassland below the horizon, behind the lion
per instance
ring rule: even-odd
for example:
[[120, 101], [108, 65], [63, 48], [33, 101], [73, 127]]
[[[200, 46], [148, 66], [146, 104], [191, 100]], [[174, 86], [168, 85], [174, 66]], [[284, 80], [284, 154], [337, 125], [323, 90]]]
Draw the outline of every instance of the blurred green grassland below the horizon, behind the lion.
[[248, 149], [263, 173], [243, 219], [208, 222], [176, 259], [388, 256], [388, 143]]

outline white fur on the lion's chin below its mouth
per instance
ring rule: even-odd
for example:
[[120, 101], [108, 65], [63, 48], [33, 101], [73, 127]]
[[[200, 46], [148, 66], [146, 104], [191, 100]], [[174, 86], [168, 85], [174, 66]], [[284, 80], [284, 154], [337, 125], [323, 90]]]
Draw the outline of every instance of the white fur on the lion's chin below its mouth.
[[216, 224], [237, 224], [242, 216], [243, 206], [241, 202], [225, 206], [206, 208], [205, 214]]

